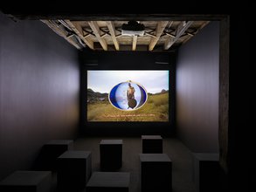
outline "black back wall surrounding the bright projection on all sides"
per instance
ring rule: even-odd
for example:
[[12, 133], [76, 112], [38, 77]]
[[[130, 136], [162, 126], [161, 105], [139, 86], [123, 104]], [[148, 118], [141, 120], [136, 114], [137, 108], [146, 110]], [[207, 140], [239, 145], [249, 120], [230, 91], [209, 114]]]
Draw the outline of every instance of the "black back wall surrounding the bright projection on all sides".
[[[175, 53], [149, 51], [84, 51], [80, 54], [81, 132], [86, 135], [135, 136], [142, 134], [174, 133]], [[161, 63], [161, 64], [159, 64]], [[166, 63], [166, 64], [162, 64]], [[86, 121], [86, 70], [170, 70], [170, 121], [169, 122], [87, 122]], [[102, 82], [104, 85], [104, 82]]]

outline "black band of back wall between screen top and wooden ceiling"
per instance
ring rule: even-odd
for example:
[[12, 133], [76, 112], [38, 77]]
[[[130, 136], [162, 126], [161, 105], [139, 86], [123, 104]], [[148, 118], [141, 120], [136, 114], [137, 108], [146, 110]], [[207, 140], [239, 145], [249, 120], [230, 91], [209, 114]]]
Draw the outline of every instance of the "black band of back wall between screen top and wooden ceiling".
[[[149, 51], [83, 51], [81, 65], [85, 69], [170, 69], [175, 63], [175, 53]], [[159, 64], [159, 62], [166, 64]], [[158, 63], [157, 63], [158, 62]], [[92, 65], [94, 64], [94, 65]]]

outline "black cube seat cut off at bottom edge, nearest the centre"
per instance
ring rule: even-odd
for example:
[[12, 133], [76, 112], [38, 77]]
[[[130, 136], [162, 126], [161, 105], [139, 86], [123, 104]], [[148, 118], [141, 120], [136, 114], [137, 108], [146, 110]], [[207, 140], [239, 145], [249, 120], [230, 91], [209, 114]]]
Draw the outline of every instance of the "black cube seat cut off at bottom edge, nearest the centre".
[[93, 172], [86, 192], [128, 192], [129, 183], [128, 172]]

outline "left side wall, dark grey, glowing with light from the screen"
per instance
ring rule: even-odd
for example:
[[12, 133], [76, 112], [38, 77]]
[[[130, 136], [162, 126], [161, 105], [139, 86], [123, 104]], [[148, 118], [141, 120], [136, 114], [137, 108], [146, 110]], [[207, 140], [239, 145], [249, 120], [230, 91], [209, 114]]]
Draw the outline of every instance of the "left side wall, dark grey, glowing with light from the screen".
[[79, 86], [72, 45], [40, 21], [0, 12], [0, 180], [31, 168], [46, 141], [74, 138]]

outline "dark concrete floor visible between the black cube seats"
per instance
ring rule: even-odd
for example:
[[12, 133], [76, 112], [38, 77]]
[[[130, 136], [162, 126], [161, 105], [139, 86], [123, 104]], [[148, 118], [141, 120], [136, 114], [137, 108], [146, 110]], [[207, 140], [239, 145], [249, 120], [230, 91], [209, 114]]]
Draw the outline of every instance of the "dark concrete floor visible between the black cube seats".
[[[142, 153], [140, 137], [89, 137], [74, 141], [74, 150], [92, 152], [92, 169], [100, 171], [100, 141], [104, 139], [121, 139], [122, 167], [121, 172], [130, 172], [130, 192], [140, 192], [139, 155]], [[193, 182], [193, 160], [190, 150], [179, 140], [163, 138], [163, 153], [168, 154], [172, 161], [172, 191], [195, 192]], [[86, 190], [84, 190], [86, 191]]]

